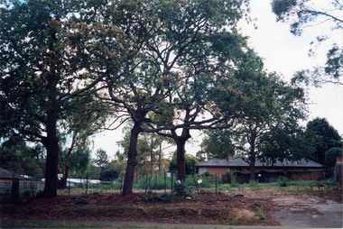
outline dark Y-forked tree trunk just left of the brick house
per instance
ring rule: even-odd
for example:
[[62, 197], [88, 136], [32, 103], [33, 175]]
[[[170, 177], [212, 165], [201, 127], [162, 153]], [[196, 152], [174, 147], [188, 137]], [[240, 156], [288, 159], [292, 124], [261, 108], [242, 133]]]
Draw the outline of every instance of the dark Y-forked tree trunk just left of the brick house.
[[185, 145], [187, 140], [190, 139], [190, 130], [183, 129], [181, 136], [178, 136], [175, 132], [172, 132], [174, 141], [176, 142], [176, 171], [177, 179], [181, 182], [186, 182], [186, 163], [185, 163]]

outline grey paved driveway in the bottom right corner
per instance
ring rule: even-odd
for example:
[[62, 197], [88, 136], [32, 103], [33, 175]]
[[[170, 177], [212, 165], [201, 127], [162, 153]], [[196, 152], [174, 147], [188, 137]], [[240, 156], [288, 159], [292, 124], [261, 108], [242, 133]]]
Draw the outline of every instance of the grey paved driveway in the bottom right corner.
[[343, 228], [342, 204], [321, 198], [274, 198], [273, 218], [285, 227]]

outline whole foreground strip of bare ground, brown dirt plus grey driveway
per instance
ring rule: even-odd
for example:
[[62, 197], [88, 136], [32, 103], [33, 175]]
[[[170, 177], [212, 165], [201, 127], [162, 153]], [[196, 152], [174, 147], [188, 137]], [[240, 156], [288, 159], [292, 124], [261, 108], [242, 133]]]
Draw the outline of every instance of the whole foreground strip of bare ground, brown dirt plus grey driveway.
[[1, 218], [311, 227], [308, 223], [294, 222], [304, 218], [306, 222], [332, 220], [333, 216], [324, 217], [330, 214], [335, 219], [329, 227], [340, 228], [341, 223], [337, 222], [342, 222], [341, 191], [330, 188], [327, 192], [312, 190], [308, 194], [304, 190], [273, 187], [218, 193], [197, 191], [191, 199], [176, 198], [172, 203], [144, 202], [147, 196], [143, 193], [125, 197], [109, 193], [87, 197], [26, 197], [3, 204]]

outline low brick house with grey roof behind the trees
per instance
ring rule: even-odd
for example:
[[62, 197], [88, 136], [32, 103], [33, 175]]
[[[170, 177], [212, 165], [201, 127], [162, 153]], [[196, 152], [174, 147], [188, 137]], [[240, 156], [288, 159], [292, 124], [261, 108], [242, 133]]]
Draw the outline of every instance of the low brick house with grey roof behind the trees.
[[[229, 160], [206, 160], [197, 163], [198, 174], [209, 172], [219, 176], [227, 172], [234, 173], [239, 183], [248, 182], [249, 164], [242, 158]], [[324, 166], [313, 160], [277, 160], [275, 163], [267, 163], [261, 160], [255, 162], [256, 179], [260, 182], [274, 182], [281, 176], [292, 180], [317, 180], [323, 178]]]

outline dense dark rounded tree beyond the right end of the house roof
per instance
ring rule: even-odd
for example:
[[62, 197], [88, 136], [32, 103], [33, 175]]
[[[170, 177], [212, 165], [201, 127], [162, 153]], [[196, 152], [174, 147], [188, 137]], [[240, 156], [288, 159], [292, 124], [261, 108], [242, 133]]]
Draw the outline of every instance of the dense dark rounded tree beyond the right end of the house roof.
[[317, 117], [311, 120], [306, 126], [306, 138], [314, 147], [311, 160], [325, 164], [325, 152], [331, 148], [340, 147], [342, 138], [338, 131], [333, 128], [328, 120]]

